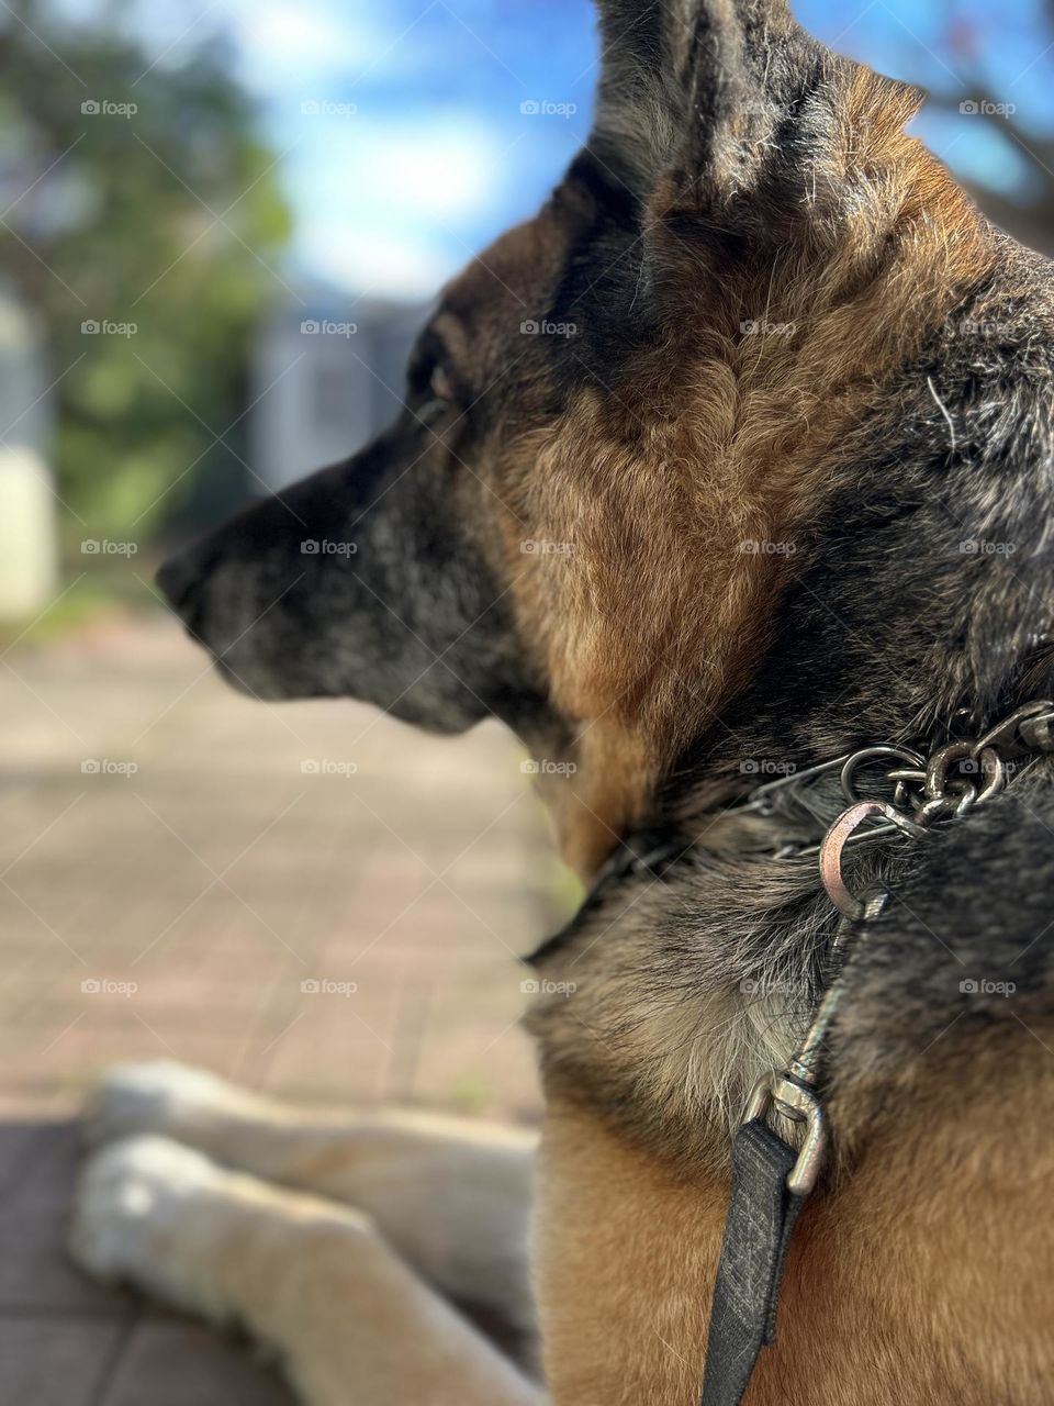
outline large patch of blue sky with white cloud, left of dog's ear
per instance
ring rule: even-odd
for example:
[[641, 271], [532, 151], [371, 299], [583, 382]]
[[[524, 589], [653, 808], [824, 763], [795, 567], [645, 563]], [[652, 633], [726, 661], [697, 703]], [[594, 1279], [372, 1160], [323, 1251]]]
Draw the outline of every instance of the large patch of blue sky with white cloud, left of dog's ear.
[[[427, 295], [538, 207], [589, 131], [587, 0], [232, 8], [271, 141], [297, 142], [298, 257], [332, 281]], [[524, 115], [531, 101], [566, 112]]]

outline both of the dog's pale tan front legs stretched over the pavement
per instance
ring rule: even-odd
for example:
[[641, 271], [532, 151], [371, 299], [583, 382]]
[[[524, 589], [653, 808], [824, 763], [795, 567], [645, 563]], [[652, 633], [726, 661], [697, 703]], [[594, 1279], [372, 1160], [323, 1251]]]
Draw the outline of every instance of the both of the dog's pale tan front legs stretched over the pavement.
[[305, 1406], [541, 1406], [437, 1292], [489, 1309], [513, 1341], [533, 1334], [530, 1135], [308, 1118], [170, 1063], [115, 1070], [89, 1135], [103, 1146], [79, 1188], [76, 1258], [243, 1323]]

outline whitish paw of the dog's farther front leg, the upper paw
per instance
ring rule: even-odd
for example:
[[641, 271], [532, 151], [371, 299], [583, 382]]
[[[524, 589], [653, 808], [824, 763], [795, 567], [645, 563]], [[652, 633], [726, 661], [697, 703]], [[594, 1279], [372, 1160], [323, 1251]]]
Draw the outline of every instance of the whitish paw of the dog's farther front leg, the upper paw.
[[236, 1097], [238, 1091], [215, 1074], [174, 1060], [118, 1064], [89, 1104], [84, 1137], [98, 1144], [134, 1133], [193, 1136]]

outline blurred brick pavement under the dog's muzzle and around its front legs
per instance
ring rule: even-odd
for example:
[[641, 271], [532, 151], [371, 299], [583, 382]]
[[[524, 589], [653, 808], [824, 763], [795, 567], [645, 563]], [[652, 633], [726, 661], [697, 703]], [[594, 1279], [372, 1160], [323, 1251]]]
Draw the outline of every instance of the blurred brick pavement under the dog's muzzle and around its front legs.
[[0, 1406], [287, 1402], [245, 1346], [65, 1264], [70, 1112], [166, 1056], [537, 1116], [516, 955], [571, 894], [520, 754], [254, 704], [160, 619], [0, 662]]

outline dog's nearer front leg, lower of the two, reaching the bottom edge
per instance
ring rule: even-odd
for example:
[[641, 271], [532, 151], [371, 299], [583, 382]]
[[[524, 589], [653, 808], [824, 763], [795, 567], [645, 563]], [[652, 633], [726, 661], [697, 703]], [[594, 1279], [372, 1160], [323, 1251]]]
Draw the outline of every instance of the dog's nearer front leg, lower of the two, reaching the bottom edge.
[[305, 1406], [541, 1406], [354, 1211], [230, 1173], [163, 1137], [96, 1153], [72, 1250], [273, 1348]]

